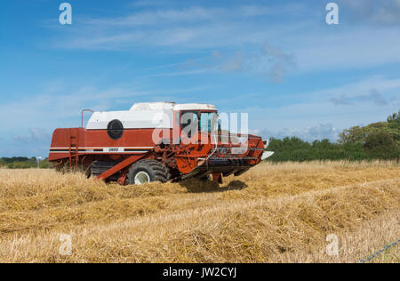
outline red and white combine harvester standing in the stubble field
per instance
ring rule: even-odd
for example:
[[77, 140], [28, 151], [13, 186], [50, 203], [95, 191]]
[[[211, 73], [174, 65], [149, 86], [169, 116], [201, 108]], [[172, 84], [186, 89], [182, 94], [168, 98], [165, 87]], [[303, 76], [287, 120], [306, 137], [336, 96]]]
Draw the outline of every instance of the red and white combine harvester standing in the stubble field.
[[82, 122], [53, 132], [49, 161], [121, 185], [209, 175], [221, 182], [273, 154], [259, 136], [214, 129], [216, 120], [214, 106], [198, 103], [136, 103], [126, 111], [93, 112], [86, 128]]

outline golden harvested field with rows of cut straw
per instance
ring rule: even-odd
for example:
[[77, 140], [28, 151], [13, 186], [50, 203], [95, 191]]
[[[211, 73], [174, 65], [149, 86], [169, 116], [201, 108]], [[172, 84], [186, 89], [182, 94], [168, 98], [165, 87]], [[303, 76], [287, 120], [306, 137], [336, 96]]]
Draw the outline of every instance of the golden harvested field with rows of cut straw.
[[0, 261], [357, 262], [400, 237], [399, 188], [396, 162], [265, 163], [220, 187], [0, 169]]

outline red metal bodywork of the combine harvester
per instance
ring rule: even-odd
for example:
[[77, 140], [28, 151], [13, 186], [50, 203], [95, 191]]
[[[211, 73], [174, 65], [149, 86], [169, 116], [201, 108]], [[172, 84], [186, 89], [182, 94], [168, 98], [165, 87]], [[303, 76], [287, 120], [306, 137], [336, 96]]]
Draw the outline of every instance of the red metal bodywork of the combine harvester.
[[[160, 139], [167, 139], [171, 144], [157, 144], [153, 141], [154, 129], [125, 129], [118, 140], [108, 136], [107, 130], [86, 130], [84, 128], [56, 129], [52, 136], [52, 145], [49, 161], [58, 162], [56, 165], [69, 165], [69, 167], [82, 166], [85, 170], [97, 161], [114, 161], [116, 163], [98, 178], [108, 179], [117, 175], [117, 181], [126, 182], [126, 175], [132, 163], [143, 158], [154, 158], [173, 171], [174, 178], [182, 175], [198, 175], [215, 172], [215, 179], [221, 181], [222, 174], [242, 173], [253, 165], [260, 163], [264, 143], [258, 136], [248, 135], [247, 149], [240, 155], [234, 155], [233, 149], [237, 145], [228, 143], [217, 145], [211, 143], [210, 133], [206, 133], [208, 141], [200, 141], [196, 133], [189, 144], [173, 144], [172, 129], [165, 129], [165, 136], [158, 135]], [[204, 136], [204, 132], [201, 132]], [[211, 158], [212, 157], [212, 158]], [[209, 167], [209, 161], [228, 161], [229, 165], [216, 165]], [[225, 168], [228, 168], [225, 169]], [[205, 169], [205, 170], [204, 170]], [[230, 171], [230, 172], [229, 172]]]

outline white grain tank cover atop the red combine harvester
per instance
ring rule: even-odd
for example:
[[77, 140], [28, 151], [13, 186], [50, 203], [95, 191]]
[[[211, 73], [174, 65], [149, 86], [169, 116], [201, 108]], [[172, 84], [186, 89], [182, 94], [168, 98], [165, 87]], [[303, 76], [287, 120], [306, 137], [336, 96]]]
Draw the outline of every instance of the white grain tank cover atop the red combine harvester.
[[87, 130], [107, 130], [112, 120], [119, 120], [124, 129], [172, 128], [173, 102], [135, 103], [125, 111], [94, 112], [86, 124]]

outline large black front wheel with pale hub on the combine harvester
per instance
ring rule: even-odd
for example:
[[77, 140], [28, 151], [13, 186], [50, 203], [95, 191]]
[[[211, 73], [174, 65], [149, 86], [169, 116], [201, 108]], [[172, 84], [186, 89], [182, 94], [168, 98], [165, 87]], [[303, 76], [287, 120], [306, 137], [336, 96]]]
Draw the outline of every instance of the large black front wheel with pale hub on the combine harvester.
[[168, 180], [168, 169], [154, 159], [144, 159], [132, 164], [128, 173], [129, 184], [140, 185], [151, 181], [166, 182]]

